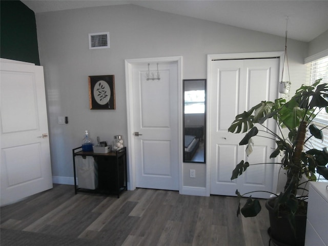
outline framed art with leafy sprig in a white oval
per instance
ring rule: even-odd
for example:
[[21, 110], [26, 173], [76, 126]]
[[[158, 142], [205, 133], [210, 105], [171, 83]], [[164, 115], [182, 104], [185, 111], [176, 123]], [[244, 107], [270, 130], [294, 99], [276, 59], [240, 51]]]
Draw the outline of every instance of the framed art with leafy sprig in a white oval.
[[89, 76], [90, 109], [115, 109], [114, 75]]

